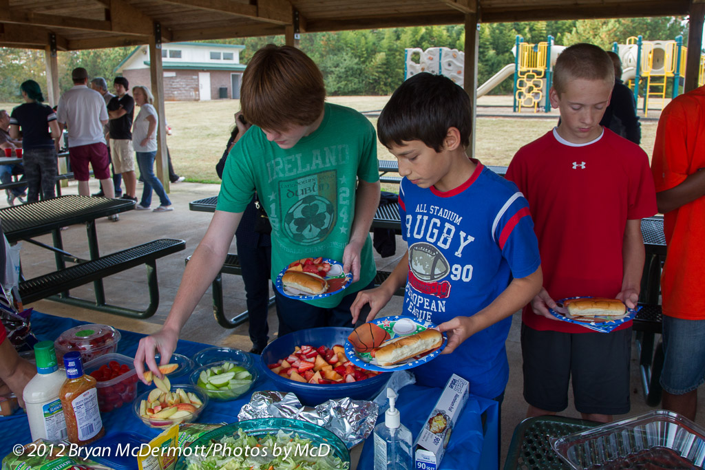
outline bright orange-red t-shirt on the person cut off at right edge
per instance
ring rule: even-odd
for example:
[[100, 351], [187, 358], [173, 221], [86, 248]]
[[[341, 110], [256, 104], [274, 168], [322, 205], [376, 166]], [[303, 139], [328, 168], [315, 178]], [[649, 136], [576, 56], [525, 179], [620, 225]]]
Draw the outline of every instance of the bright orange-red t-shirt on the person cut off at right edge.
[[[661, 113], [651, 172], [656, 191], [670, 190], [705, 168], [705, 87], [682, 94]], [[705, 170], [704, 170], [705, 171]], [[705, 197], [663, 215], [668, 256], [661, 275], [663, 313], [705, 319]]]

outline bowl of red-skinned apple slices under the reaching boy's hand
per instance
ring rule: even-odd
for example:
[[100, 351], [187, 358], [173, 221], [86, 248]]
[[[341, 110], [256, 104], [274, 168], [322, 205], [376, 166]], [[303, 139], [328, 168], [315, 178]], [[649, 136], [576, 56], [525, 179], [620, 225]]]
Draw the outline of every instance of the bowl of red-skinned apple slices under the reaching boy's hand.
[[168, 377], [154, 377], [157, 388], [142, 393], [133, 404], [135, 416], [150, 428], [190, 423], [208, 404], [208, 395], [192, 385], [171, 387]]

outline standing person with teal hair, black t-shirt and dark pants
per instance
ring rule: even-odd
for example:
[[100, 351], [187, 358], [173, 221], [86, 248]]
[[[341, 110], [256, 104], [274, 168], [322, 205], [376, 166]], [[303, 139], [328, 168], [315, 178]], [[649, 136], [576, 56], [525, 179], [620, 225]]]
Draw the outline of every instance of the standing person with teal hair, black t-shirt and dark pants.
[[42, 199], [50, 199], [56, 197], [56, 151], [59, 149], [61, 130], [56, 123], [54, 110], [42, 103], [44, 96], [39, 83], [27, 80], [20, 85], [20, 91], [25, 104], [12, 110], [10, 135], [18, 137], [22, 128], [27, 201], [38, 201], [40, 196]]

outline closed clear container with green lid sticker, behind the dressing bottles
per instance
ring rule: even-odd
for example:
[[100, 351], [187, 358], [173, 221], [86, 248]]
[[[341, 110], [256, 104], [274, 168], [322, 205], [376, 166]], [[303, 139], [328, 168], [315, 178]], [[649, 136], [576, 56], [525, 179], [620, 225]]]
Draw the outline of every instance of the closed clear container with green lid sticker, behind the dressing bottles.
[[116, 352], [119, 341], [120, 332], [112, 326], [91, 323], [64, 331], [56, 338], [54, 345], [59, 361], [67, 352], [78, 351], [81, 353], [82, 363], [87, 364], [103, 354]]

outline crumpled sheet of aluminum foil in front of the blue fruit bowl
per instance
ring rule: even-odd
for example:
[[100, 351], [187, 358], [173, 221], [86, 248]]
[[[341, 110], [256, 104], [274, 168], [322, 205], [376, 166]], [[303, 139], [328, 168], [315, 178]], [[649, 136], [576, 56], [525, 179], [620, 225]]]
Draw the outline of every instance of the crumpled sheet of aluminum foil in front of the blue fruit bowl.
[[379, 407], [373, 402], [339, 398], [316, 407], [305, 407], [291, 392], [262, 390], [252, 394], [238, 419], [292, 418], [323, 426], [343, 440], [348, 449], [367, 439], [377, 421]]

